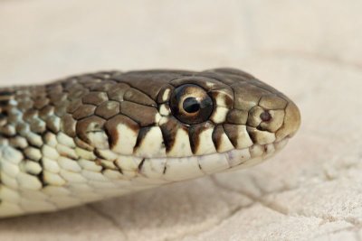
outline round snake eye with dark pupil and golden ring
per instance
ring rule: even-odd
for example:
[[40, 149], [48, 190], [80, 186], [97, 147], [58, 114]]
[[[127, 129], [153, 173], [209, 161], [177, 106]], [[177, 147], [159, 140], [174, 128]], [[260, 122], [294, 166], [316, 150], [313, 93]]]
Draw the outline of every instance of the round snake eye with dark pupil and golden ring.
[[186, 84], [174, 90], [170, 107], [178, 120], [188, 125], [205, 122], [213, 112], [213, 100], [204, 88]]

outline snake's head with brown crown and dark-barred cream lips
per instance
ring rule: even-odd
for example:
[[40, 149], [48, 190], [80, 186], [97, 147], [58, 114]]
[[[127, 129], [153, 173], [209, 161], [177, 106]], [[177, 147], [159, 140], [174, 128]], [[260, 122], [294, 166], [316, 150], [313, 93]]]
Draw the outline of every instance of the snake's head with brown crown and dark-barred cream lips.
[[300, 126], [288, 97], [241, 70], [133, 71], [109, 79], [69, 108], [77, 120], [73, 136], [148, 180], [254, 165], [281, 150]]

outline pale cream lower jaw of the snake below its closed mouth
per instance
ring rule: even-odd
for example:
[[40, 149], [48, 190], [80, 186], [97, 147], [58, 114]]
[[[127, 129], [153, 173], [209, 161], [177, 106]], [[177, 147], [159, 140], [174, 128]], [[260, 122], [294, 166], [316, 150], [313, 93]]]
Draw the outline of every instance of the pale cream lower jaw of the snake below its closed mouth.
[[145, 158], [138, 166], [138, 173], [147, 179], [169, 182], [194, 179], [219, 171], [243, 169], [278, 153], [289, 139], [286, 137], [272, 144], [253, 144], [248, 148], [234, 149], [225, 153], [179, 158]]

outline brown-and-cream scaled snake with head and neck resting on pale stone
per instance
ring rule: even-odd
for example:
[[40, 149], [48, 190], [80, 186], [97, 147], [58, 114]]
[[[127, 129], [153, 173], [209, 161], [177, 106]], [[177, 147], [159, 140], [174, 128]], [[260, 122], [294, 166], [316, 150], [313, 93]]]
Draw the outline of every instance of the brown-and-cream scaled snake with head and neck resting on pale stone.
[[0, 218], [251, 167], [299, 127], [289, 97], [231, 68], [0, 88]]

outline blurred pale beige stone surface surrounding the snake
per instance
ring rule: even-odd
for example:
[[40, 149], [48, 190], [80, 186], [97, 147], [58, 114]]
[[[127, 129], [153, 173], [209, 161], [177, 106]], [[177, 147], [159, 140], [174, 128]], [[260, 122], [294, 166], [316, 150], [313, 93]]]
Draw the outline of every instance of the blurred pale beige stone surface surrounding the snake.
[[1, 240], [360, 240], [362, 1], [0, 1], [0, 84], [94, 70], [234, 67], [303, 125], [270, 162], [59, 213]]

